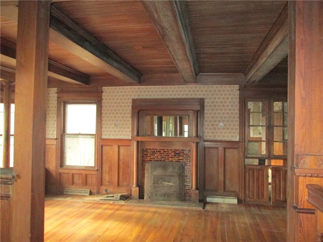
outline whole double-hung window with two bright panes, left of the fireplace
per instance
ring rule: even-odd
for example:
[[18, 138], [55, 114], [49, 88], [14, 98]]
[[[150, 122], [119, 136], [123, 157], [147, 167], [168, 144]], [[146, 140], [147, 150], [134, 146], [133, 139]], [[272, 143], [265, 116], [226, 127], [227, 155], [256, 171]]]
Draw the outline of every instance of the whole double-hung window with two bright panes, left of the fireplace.
[[95, 167], [97, 103], [64, 102], [63, 167]]

